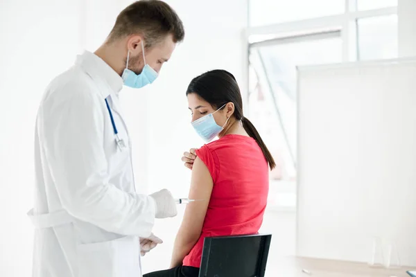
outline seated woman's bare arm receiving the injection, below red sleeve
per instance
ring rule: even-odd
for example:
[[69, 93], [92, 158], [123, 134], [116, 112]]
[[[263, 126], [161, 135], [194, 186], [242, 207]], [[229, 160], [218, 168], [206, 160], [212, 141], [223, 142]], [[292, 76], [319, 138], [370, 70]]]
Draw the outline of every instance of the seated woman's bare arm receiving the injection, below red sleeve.
[[177, 231], [173, 246], [171, 268], [182, 265], [182, 260], [198, 242], [207, 213], [212, 187], [213, 181], [209, 170], [205, 163], [197, 157], [192, 168], [189, 199], [203, 199], [203, 201], [191, 202], [185, 209], [184, 218], [179, 231]]

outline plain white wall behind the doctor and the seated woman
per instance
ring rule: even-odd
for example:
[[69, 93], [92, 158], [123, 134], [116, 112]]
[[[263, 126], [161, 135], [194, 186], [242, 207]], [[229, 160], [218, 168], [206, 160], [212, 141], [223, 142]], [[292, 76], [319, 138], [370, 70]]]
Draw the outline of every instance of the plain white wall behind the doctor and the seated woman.
[[[0, 276], [30, 276], [33, 227], [33, 136], [44, 88], [83, 48], [101, 44], [119, 11], [132, 1], [0, 1]], [[159, 80], [121, 94], [134, 141], [137, 188], [186, 195], [184, 150], [200, 146], [184, 96], [191, 78], [209, 69], [232, 71], [245, 84], [247, 0], [167, 1], [184, 21], [186, 38]], [[243, 89], [245, 91], [245, 88]], [[167, 267], [180, 216], [157, 222], [166, 243], [144, 260], [145, 271]], [[161, 255], [156, 261], [157, 254]]]

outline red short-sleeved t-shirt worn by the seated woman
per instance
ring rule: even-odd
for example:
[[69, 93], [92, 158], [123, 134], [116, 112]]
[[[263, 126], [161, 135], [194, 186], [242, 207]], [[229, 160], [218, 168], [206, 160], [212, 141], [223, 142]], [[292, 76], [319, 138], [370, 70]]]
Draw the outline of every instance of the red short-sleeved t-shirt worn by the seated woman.
[[184, 266], [200, 267], [205, 237], [258, 233], [268, 195], [268, 163], [257, 142], [229, 134], [202, 146], [196, 155], [214, 181], [202, 233]]

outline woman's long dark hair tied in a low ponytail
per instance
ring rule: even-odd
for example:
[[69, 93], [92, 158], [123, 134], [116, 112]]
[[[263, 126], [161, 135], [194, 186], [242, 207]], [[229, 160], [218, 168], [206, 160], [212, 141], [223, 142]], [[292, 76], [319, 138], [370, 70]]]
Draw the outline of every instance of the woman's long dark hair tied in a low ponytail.
[[[239, 84], [237, 84], [232, 73], [219, 69], [203, 73], [193, 78], [187, 89], [187, 95], [189, 93], [196, 93], [200, 98], [209, 102], [214, 109], [218, 109], [227, 104], [227, 102], [233, 102], [235, 118], [241, 120], [245, 132], [257, 141], [270, 169], [276, 167], [275, 159], [273, 159], [272, 154], [270, 154], [261, 139], [259, 132], [257, 132], [250, 120], [243, 116], [243, 99], [241, 99]], [[222, 107], [221, 109], [224, 108]]]

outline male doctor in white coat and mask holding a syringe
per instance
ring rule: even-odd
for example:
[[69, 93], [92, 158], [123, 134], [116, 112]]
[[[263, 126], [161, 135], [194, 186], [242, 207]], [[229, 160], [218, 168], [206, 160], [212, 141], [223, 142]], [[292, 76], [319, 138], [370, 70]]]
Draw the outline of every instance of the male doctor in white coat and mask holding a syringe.
[[[168, 190], [135, 192], [119, 91], [152, 83], [184, 27], [166, 3], [132, 3], [95, 53], [49, 84], [35, 134], [35, 277], [141, 276], [140, 242], [159, 243], [156, 218], [174, 217]], [[144, 118], [139, 118], [144, 120]], [[143, 250], [143, 249], [142, 249]]]

